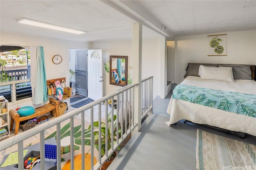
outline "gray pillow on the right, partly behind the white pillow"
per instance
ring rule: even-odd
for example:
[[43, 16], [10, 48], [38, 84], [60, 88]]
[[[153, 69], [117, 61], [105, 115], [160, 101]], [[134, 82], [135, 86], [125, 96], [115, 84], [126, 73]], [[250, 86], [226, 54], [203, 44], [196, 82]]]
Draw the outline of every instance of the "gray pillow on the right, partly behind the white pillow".
[[232, 67], [234, 79], [252, 80], [250, 65], [244, 64], [218, 64], [219, 67]]

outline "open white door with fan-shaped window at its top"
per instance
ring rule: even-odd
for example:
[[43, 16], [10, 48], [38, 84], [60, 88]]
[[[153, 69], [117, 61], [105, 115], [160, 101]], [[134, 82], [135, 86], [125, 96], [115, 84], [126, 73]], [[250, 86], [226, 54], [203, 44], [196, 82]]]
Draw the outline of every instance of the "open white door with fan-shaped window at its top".
[[103, 97], [102, 49], [87, 51], [88, 97], [98, 100]]

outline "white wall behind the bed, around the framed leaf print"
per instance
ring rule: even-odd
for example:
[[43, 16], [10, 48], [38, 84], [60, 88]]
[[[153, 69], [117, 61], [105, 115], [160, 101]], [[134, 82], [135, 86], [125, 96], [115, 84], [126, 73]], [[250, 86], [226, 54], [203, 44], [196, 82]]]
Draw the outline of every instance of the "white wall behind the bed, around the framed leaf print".
[[207, 35], [175, 37], [175, 80], [184, 80], [188, 63], [256, 64], [256, 29], [214, 33], [227, 34], [227, 56], [207, 56]]

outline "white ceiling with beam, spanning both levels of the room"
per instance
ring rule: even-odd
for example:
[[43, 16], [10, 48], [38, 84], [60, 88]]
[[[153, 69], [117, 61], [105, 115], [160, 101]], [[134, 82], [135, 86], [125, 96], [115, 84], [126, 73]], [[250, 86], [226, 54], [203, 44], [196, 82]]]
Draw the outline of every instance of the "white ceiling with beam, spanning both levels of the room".
[[[72, 34], [18, 23], [20, 18], [86, 31]], [[74, 41], [195, 35], [256, 29], [255, 0], [0, 0], [0, 31]], [[162, 30], [162, 25], [166, 29]]]

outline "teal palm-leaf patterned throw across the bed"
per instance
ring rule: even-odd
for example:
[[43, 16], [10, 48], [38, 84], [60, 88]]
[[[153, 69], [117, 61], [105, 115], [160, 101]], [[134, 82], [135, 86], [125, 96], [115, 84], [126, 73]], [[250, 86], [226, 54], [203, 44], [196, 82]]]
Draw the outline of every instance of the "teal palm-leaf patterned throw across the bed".
[[228, 92], [181, 84], [174, 88], [172, 98], [256, 117], [255, 94]]

